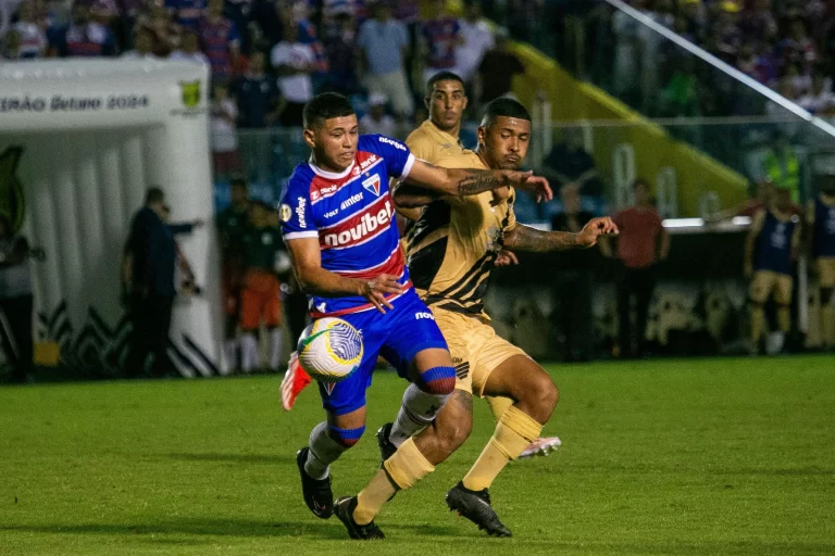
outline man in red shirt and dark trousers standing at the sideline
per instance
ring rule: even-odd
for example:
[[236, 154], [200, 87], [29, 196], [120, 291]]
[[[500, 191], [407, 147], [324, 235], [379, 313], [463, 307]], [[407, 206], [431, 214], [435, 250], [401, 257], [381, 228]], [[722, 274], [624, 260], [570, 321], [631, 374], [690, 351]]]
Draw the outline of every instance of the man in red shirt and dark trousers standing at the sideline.
[[[656, 265], [670, 253], [670, 236], [661, 225], [661, 217], [652, 206], [649, 184], [635, 181], [635, 205], [614, 215], [621, 230], [618, 238], [618, 321], [621, 357], [644, 356], [647, 316], [652, 290], [656, 287]], [[606, 256], [612, 256], [609, 245], [602, 247]], [[632, 296], [635, 295], [635, 328], [637, 351], [632, 333]]]

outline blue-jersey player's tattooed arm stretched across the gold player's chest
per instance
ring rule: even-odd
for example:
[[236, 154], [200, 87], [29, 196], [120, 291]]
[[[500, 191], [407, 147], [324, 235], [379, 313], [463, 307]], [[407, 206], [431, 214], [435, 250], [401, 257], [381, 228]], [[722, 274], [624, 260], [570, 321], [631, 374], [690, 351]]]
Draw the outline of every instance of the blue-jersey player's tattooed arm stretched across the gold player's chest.
[[432, 189], [445, 195], [475, 195], [510, 186], [533, 193], [537, 202], [553, 199], [548, 180], [534, 176], [531, 172], [440, 168], [428, 162], [415, 160], [406, 182]]

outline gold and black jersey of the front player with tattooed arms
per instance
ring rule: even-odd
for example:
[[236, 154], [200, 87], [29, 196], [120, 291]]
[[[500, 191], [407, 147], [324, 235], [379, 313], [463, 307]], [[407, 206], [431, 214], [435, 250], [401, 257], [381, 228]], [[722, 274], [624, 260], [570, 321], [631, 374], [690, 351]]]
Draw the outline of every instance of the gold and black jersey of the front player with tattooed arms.
[[[487, 169], [472, 151], [435, 162]], [[427, 305], [489, 320], [484, 294], [504, 233], [516, 225], [514, 192], [491, 206], [493, 192], [449, 197], [429, 204], [406, 236], [409, 274]]]

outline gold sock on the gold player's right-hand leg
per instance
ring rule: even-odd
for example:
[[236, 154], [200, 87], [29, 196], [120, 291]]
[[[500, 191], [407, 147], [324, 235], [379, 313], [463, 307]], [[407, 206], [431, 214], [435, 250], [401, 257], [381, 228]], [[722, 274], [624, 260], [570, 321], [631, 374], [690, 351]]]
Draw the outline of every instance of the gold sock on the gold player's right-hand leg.
[[516, 459], [528, 444], [539, 438], [541, 431], [540, 424], [515, 405], [510, 406], [482, 455], [464, 477], [464, 488], [471, 491], [489, 489], [508, 462]]

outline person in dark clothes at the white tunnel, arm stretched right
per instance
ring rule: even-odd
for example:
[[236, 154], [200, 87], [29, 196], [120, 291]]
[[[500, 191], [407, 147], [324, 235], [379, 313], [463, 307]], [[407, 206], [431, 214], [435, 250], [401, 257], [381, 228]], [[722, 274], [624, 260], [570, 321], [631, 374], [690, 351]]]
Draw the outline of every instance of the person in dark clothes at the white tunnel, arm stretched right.
[[159, 188], [150, 188], [145, 207], [134, 216], [125, 245], [122, 282], [129, 299], [133, 324], [125, 371], [133, 377], [146, 374], [148, 356], [153, 357], [151, 375], [162, 376], [175, 370], [167, 355], [171, 312], [176, 294], [174, 236], [189, 233], [202, 223], [166, 225], [162, 219], [164, 213], [165, 194]]

